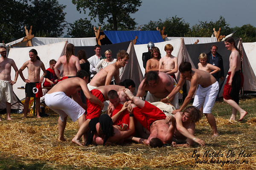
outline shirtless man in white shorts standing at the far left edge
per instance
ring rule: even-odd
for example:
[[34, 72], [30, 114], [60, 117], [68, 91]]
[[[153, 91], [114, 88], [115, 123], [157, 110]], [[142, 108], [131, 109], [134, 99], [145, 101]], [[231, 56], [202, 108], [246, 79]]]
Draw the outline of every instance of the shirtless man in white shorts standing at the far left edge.
[[[19, 76], [18, 68], [13, 59], [9, 59], [6, 57], [6, 47], [0, 47], [0, 102], [3, 97], [6, 101], [6, 114], [7, 120], [12, 120], [10, 117], [11, 114], [11, 103], [13, 98], [12, 85], [14, 85]], [[15, 78], [12, 81], [11, 79], [11, 69], [15, 70]], [[0, 121], [2, 121], [0, 119]]]

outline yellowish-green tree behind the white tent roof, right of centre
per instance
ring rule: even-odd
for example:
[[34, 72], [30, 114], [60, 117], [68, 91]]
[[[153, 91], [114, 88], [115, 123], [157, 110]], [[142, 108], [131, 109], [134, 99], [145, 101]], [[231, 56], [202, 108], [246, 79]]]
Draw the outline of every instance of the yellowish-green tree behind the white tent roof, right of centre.
[[186, 37], [211, 37], [213, 28], [218, 31], [221, 28], [221, 35], [228, 35], [232, 33], [232, 29], [229, 24], [225, 21], [225, 18], [220, 16], [218, 21], [199, 21], [199, 24], [195, 24], [186, 34]]

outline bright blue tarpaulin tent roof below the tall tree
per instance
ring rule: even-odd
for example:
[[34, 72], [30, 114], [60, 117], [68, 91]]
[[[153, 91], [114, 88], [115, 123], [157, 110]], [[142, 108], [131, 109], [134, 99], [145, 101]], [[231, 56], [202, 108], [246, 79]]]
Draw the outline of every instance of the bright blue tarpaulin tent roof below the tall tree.
[[163, 42], [160, 31], [104, 31], [104, 34], [113, 43], [134, 40], [137, 36], [136, 44], [148, 44], [148, 42]]

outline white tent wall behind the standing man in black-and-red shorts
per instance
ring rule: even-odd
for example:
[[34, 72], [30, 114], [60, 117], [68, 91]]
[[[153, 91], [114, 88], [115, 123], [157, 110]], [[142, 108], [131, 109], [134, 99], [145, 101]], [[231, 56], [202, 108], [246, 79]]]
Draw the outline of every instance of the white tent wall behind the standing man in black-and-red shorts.
[[[59, 57], [65, 54], [66, 45], [67, 42], [64, 41], [36, 47], [11, 48], [8, 58], [13, 59], [17, 65], [17, 68], [19, 69], [24, 64], [24, 62], [29, 60], [29, 51], [31, 49], [35, 49], [38, 52], [38, 56], [40, 57], [41, 61], [44, 63], [45, 68], [47, 69], [49, 68], [49, 61], [51, 59], [55, 59], [57, 61]], [[43, 71], [41, 71], [40, 75], [42, 74]], [[27, 68], [23, 70], [23, 75], [25, 78], [28, 78]], [[11, 77], [15, 77], [15, 71], [13, 69], [11, 72]], [[25, 86], [25, 82], [23, 82], [23, 80], [19, 76], [17, 79], [17, 83], [13, 85], [13, 91], [19, 99], [25, 98], [25, 91], [17, 89], [22, 86]]]

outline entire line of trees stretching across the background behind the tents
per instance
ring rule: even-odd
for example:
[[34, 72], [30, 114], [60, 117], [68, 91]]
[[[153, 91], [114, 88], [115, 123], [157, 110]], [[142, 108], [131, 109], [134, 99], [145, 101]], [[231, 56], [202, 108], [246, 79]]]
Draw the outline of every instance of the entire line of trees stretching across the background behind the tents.
[[[26, 36], [24, 26], [32, 26], [35, 37], [60, 37], [64, 28], [68, 29], [69, 37], [92, 37], [95, 35], [93, 27], [101, 26], [101, 30], [120, 31], [155, 31], [157, 27], [165, 27], [164, 34], [168, 37], [211, 37], [213, 28], [217, 31], [221, 28], [221, 35], [227, 36], [236, 31], [235, 38], [241, 37], [243, 42], [256, 42], [256, 27], [247, 24], [230, 28], [222, 16], [216, 21], [198, 21], [191, 27], [177, 16], [150, 20], [137, 26], [130, 14], [138, 11], [141, 0], [72, 0], [72, 3], [80, 13], [88, 13], [90, 18], [67, 23], [64, 12], [67, 6], [59, 4], [58, 0], [1, 0], [0, 41], [7, 43]], [[97, 20], [99, 24], [93, 26], [91, 20]]]

